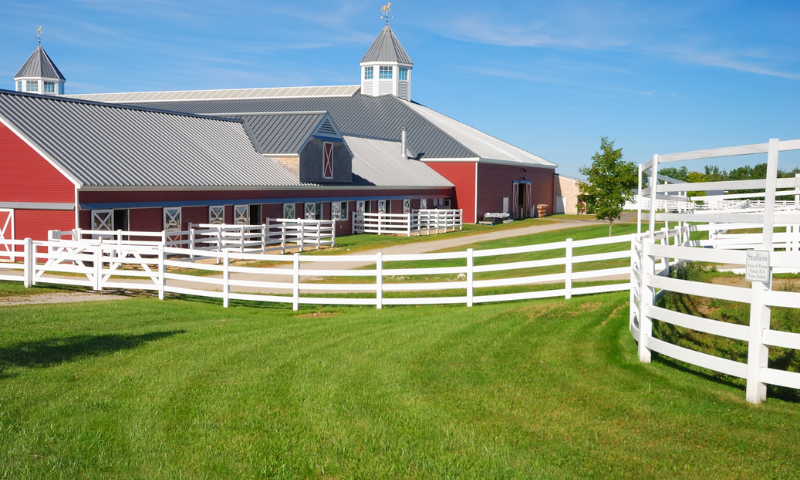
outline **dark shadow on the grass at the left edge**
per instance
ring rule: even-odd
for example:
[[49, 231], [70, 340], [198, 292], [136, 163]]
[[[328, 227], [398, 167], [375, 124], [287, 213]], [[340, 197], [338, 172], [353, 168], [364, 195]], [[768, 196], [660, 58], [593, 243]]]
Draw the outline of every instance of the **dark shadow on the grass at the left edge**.
[[171, 337], [186, 330], [152, 332], [142, 335], [76, 335], [21, 342], [0, 348], [0, 379], [10, 367], [46, 368], [72, 360], [132, 350], [145, 343]]

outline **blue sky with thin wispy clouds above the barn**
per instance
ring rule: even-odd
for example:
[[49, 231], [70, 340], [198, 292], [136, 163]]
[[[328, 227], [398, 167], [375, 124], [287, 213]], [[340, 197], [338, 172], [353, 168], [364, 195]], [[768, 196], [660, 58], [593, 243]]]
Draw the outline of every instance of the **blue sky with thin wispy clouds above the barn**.
[[[357, 84], [381, 5], [4, 0], [0, 85], [13, 89], [39, 25], [67, 93]], [[800, 2], [398, 0], [392, 13], [415, 101], [565, 175], [601, 136], [637, 163], [800, 138]]]

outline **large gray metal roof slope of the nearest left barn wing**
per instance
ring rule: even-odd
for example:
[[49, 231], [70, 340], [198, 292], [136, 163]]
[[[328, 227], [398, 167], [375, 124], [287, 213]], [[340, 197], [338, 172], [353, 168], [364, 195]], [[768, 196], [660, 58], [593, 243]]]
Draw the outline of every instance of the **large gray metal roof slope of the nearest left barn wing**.
[[0, 90], [0, 118], [78, 184], [299, 186], [235, 120]]

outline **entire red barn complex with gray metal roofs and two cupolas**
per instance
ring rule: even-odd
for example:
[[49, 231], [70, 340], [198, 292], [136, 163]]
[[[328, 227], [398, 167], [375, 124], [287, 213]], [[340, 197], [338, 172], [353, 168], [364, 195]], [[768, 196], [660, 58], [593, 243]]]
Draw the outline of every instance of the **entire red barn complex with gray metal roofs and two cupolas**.
[[410, 100], [413, 62], [388, 25], [360, 66], [354, 86], [65, 97], [39, 46], [17, 92], [0, 90], [0, 209], [17, 238], [44, 238], [334, 215], [345, 233], [356, 210], [476, 222], [551, 202], [555, 164]]

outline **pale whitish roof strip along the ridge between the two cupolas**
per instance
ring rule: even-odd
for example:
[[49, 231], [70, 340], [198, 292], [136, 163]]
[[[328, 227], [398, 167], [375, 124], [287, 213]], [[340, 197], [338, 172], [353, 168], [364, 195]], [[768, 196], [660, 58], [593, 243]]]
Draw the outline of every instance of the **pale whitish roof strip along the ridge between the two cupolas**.
[[326, 87], [238, 88], [232, 90], [179, 90], [168, 92], [123, 92], [70, 95], [95, 102], [137, 103], [182, 102], [190, 100], [254, 100], [266, 98], [352, 97], [358, 85]]

